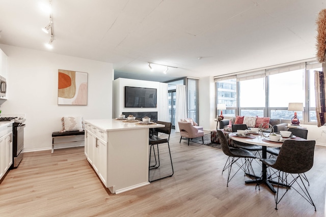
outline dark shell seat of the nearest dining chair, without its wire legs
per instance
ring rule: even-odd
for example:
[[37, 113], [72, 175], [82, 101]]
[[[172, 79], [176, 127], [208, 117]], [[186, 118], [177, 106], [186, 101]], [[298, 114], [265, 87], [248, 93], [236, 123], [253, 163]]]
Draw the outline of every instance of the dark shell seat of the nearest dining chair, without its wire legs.
[[314, 140], [285, 140], [272, 167], [287, 173], [307, 172], [314, 163], [315, 144]]

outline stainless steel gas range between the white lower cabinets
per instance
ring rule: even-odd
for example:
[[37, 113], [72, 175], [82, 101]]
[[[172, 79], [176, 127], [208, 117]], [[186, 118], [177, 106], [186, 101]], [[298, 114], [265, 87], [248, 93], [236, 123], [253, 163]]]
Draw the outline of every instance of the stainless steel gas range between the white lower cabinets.
[[23, 157], [25, 118], [23, 117], [1, 117], [0, 121], [14, 121], [13, 123], [13, 165], [17, 168]]

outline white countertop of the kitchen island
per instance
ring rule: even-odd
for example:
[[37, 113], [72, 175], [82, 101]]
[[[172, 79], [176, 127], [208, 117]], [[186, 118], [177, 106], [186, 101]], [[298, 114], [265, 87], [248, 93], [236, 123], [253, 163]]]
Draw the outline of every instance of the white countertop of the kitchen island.
[[139, 125], [135, 122], [124, 122], [119, 119], [88, 119], [84, 120], [91, 125], [103, 130], [103, 131], [120, 131], [120, 130], [131, 130], [131, 129], [149, 129], [149, 128], [161, 128], [164, 125], [153, 123], [151, 125]]

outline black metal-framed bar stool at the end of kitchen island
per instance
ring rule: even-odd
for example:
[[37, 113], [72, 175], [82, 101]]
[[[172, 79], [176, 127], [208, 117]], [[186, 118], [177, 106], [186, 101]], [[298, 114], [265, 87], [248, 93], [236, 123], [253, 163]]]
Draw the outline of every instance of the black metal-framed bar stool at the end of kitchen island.
[[[172, 123], [171, 122], [164, 122], [164, 121], [156, 121], [156, 123], [161, 124], [161, 125], [165, 125], [165, 127], [162, 127], [162, 128], [154, 128], [154, 131], [157, 132], [157, 135], [154, 135], [155, 133], [153, 133], [149, 137], [150, 151], [149, 151], [148, 181], [150, 181], [150, 182], [151, 181], [156, 181], [156, 180], [159, 180], [159, 179], [162, 179], [162, 178], [171, 177], [174, 174], [172, 157], [171, 157], [171, 150], [170, 150], [170, 144], [169, 144]], [[158, 133], [168, 134], [169, 136], [168, 136], [168, 138], [162, 137], [162, 136], [158, 135]], [[169, 174], [169, 175], [164, 176], [164, 177], [156, 178], [154, 180], [150, 180], [150, 170], [157, 169], [160, 166], [158, 145], [159, 144], [164, 144], [164, 143], [167, 143], [168, 144], [169, 154], [170, 154], [170, 161], [171, 161], [171, 168], [172, 168], [172, 174]], [[155, 146], [156, 146], [156, 149], [157, 149], [157, 159], [156, 159], [156, 153], [155, 153]], [[153, 149], [153, 153], [154, 153], [155, 165], [152, 165], [151, 166], [152, 149]]]

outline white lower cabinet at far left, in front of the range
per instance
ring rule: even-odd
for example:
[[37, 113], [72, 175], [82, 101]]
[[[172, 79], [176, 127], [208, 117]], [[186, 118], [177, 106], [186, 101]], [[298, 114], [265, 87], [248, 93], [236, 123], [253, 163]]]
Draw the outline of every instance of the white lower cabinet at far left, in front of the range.
[[0, 126], [0, 179], [13, 163], [12, 122]]

